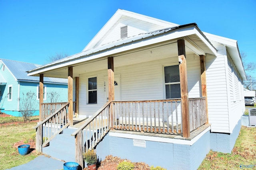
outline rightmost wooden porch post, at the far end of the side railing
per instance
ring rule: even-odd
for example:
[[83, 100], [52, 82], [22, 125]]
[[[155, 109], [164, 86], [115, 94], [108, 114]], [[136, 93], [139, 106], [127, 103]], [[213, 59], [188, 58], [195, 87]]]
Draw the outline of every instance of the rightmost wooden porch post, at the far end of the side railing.
[[202, 84], [202, 97], [206, 97], [206, 124], [208, 124], [208, 102], [207, 102], [207, 88], [206, 88], [206, 68], [205, 56], [200, 55], [200, 68], [201, 68], [201, 84]]

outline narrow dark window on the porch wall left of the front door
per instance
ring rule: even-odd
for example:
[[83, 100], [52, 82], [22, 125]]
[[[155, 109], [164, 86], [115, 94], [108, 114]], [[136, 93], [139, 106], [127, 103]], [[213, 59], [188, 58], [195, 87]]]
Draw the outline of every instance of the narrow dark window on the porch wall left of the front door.
[[88, 104], [97, 103], [97, 77], [88, 78]]

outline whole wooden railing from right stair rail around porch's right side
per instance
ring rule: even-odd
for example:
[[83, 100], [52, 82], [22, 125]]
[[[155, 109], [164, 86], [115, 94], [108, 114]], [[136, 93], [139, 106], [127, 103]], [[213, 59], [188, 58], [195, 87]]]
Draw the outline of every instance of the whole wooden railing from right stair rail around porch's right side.
[[[189, 99], [190, 131], [204, 125], [206, 98]], [[72, 135], [76, 162], [83, 165], [83, 152], [94, 149], [110, 129], [152, 133], [182, 133], [181, 100], [112, 101], [106, 103]]]

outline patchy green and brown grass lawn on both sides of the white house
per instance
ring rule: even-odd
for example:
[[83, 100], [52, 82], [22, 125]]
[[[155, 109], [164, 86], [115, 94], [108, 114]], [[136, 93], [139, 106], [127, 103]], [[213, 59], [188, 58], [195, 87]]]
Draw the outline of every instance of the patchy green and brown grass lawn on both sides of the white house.
[[[38, 119], [33, 118], [33, 119]], [[4, 122], [22, 121], [20, 117], [0, 117], [0, 124]], [[16, 148], [13, 148], [14, 143], [21, 140], [28, 140], [35, 133], [33, 129], [36, 122], [19, 123], [18, 125], [0, 125], [0, 170], [5, 170], [25, 164], [38, 156], [36, 153], [30, 153], [21, 156]], [[210, 151], [199, 170], [239, 170], [240, 166], [256, 165], [256, 128], [242, 127], [240, 135], [236, 140], [235, 147], [231, 154]], [[256, 166], [252, 168], [256, 169]]]

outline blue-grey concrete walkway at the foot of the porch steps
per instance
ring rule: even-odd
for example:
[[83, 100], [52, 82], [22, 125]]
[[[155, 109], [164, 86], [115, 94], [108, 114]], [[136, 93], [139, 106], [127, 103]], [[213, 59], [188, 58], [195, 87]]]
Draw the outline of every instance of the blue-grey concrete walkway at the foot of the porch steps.
[[64, 163], [65, 162], [60, 160], [40, 155], [26, 164], [15, 166], [7, 170], [62, 170]]

